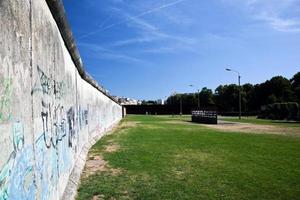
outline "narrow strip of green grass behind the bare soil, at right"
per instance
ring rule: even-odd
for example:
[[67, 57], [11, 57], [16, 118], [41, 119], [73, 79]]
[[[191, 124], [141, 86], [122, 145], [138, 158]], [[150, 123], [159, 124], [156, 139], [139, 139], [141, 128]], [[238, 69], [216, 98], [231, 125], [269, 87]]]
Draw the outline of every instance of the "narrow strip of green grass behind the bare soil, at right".
[[274, 125], [282, 127], [300, 127], [300, 122], [292, 122], [286, 120], [271, 120], [271, 119], [257, 119], [256, 117], [242, 117], [241, 120], [238, 117], [219, 117], [219, 120], [229, 122], [242, 122], [259, 125]]

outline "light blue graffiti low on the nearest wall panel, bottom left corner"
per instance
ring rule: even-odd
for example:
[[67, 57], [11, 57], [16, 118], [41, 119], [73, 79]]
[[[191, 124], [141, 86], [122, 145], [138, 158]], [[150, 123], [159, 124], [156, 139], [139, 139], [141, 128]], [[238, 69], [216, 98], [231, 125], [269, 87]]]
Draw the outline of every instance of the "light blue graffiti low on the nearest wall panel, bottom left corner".
[[0, 200], [33, 199], [33, 150], [25, 147], [24, 126], [13, 123], [13, 147], [0, 170]]

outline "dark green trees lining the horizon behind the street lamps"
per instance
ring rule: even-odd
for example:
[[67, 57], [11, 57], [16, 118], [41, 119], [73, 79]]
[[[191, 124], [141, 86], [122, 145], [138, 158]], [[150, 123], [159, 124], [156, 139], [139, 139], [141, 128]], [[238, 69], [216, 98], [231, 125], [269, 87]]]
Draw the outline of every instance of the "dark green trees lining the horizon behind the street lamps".
[[300, 103], [300, 72], [292, 79], [275, 76], [261, 84], [246, 83], [239, 87], [236, 84], [220, 85], [214, 91], [207, 87], [199, 93], [174, 94], [168, 97], [168, 105], [194, 107], [217, 107], [221, 112], [237, 112], [239, 90], [242, 96], [242, 110], [246, 113], [259, 112], [264, 105], [297, 102]]

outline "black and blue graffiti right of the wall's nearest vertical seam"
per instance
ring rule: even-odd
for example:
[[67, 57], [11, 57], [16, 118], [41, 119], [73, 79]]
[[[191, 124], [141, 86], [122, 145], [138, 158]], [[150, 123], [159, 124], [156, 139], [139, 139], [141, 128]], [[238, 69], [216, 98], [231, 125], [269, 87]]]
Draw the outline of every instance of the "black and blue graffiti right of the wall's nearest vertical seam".
[[[66, 84], [37, 67], [32, 94], [41, 94], [41, 135], [36, 145], [37, 185], [40, 199], [51, 198], [59, 177], [70, 171], [79, 132], [88, 125], [88, 110], [64, 104]], [[49, 184], [51, 183], [51, 184]]]

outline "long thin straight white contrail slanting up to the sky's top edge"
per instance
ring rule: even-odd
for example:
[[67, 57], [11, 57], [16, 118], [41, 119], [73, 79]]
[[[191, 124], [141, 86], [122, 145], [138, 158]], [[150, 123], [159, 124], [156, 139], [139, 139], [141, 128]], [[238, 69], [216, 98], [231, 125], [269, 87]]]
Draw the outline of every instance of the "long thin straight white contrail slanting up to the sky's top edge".
[[[164, 9], [164, 8], [168, 8], [168, 7], [174, 6], [174, 5], [179, 4], [179, 3], [183, 2], [183, 1], [186, 1], [186, 0], [177, 0], [177, 1], [173, 1], [173, 2], [171, 2], [171, 3], [167, 3], [167, 4], [161, 5], [161, 6], [159, 6], [159, 7], [152, 8], [152, 9], [150, 9], [150, 10], [147, 10], [147, 11], [145, 11], [145, 12], [142, 12], [142, 13], [140, 13], [140, 14], [134, 16], [134, 17], [135, 17], [135, 18], [143, 17], [143, 16], [145, 16], [145, 15], [151, 14], [151, 13], [156, 12], [156, 11], [159, 11], [159, 10], [161, 10], [161, 9]], [[110, 24], [110, 25], [108, 25], [108, 26], [106, 26], [106, 27], [103, 27], [103, 28], [101, 27], [100, 29], [97, 29], [97, 30], [95, 30], [95, 31], [91, 31], [91, 32], [88, 32], [88, 33], [85, 33], [85, 34], [81, 35], [81, 36], [79, 37], [79, 39], [88, 37], [88, 36], [90, 36], [90, 35], [94, 35], [94, 34], [96, 34], [96, 33], [98, 33], [98, 32], [101, 32], [101, 31], [105, 31], [105, 30], [111, 29], [111, 28], [113, 28], [113, 27], [115, 27], [115, 26], [117, 26], [117, 25], [124, 24], [124, 23], [126, 23], [126, 22], [128, 22], [128, 21], [131, 21], [131, 19], [126, 19], [126, 20], [123, 20], [123, 21], [120, 21], [120, 22], [117, 22], [117, 23], [114, 23], [114, 24]]]

